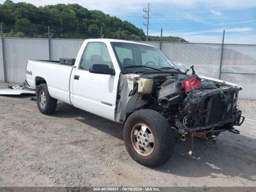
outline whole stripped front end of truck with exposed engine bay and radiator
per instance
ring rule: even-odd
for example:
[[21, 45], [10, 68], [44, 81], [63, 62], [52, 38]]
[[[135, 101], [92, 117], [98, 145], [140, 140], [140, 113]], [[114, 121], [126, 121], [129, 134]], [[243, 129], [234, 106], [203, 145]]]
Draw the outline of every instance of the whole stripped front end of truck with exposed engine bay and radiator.
[[[237, 107], [240, 86], [197, 76], [194, 70], [190, 75], [145, 72], [130, 77], [130, 81], [133, 88], [129, 97], [136, 98], [131, 101], [139, 104], [140, 109], [160, 112], [182, 140], [190, 140], [192, 136], [207, 140], [224, 131], [240, 133], [233, 128], [244, 121]], [[147, 81], [151, 81], [149, 92], [145, 92]]]

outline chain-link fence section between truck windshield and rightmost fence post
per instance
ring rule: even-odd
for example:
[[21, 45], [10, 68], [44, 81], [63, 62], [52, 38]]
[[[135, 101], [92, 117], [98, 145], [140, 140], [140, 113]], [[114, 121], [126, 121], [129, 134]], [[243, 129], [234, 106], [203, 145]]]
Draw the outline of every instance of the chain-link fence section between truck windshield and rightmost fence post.
[[198, 74], [218, 78], [220, 44], [163, 43], [162, 51], [182, 71], [194, 65]]

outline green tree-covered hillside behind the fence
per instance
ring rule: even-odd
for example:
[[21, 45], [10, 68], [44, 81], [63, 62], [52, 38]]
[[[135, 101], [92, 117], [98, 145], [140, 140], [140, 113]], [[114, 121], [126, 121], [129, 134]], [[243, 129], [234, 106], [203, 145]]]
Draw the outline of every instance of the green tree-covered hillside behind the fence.
[[[0, 24], [7, 37], [48, 37], [48, 27], [53, 38], [118, 38], [146, 40], [145, 33], [128, 21], [88, 10], [79, 4], [56, 4], [36, 7], [33, 4], [6, 0], [0, 4]], [[157, 36], [149, 40], [159, 41]], [[164, 37], [163, 41], [185, 41], [179, 37]]]

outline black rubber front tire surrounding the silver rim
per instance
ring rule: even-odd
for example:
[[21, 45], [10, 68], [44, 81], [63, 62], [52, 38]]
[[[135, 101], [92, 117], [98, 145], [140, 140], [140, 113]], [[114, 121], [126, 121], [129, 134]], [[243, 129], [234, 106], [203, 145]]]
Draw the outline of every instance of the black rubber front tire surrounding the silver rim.
[[[154, 149], [148, 156], [142, 156], [133, 145], [132, 129], [138, 124], [146, 125], [154, 136]], [[130, 156], [139, 164], [147, 167], [160, 166], [167, 162], [174, 150], [174, 136], [170, 124], [160, 113], [142, 109], [132, 113], [124, 124], [124, 144]], [[132, 134], [132, 135], [131, 135]], [[135, 136], [135, 140], [137, 140]]]

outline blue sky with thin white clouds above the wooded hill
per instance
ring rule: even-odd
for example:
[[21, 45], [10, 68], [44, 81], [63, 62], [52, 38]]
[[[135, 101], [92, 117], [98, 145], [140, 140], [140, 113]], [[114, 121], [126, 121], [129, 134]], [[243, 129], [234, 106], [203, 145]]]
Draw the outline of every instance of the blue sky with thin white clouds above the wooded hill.
[[[20, 0], [13, 0], [20, 2]], [[193, 42], [256, 43], [256, 0], [22, 0], [36, 6], [78, 3], [89, 10], [143, 26], [143, 8], [150, 3], [150, 35], [179, 36]], [[98, 6], [97, 6], [98, 5]], [[112, 8], [110, 8], [112, 7]]]

